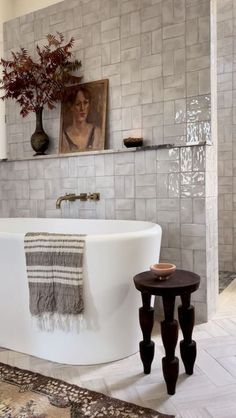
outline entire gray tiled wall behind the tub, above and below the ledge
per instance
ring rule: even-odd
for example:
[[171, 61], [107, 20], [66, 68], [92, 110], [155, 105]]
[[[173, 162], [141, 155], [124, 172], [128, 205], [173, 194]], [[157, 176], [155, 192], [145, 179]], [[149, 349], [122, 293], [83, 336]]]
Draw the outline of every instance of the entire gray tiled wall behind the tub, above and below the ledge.
[[[35, 160], [35, 117], [22, 119], [8, 102], [9, 158], [22, 161], [0, 165], [0, 216], [160, 223], [161, 259], [201, 274], [193, 300], [198, 319], [206, 320], [216, 280], [207, 260], [208, 248], [215, 251], [209, 232], [214, 205], [206, 208], [212, 176], [206, 147], [198, 144], [212, 139], [210, 0], [67, 0], [7, 22], [6, 55], [21, 45], [32, 53], [57, 30], [74, 36], [85, 82], [109, 79], [107, 148], [122, 148], [130, 135], [143, 136], [146, 145], [175, 147]], [[59, 126], [58, 105], [44, 113], [51, 154], [58, 152]], [[207, 152], [211, 157], [214, 147]], [[101, 200], [63, 202], [56, 210], [60, 195], [89, 191], [100, 192]]]

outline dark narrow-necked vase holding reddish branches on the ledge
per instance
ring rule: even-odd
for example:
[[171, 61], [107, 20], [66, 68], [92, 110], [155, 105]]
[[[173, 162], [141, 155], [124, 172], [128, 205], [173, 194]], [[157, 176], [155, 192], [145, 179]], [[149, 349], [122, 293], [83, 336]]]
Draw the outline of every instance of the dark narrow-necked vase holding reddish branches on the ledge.
[[46, 132], [43, 129], [43, 108], [40, 107], [36, 111], [36, 129], [35, 132], [31, 135], [31, 146], [35, 151], [36, 155], [45, 155], [45, 151], [48, 149], [49, 138]]

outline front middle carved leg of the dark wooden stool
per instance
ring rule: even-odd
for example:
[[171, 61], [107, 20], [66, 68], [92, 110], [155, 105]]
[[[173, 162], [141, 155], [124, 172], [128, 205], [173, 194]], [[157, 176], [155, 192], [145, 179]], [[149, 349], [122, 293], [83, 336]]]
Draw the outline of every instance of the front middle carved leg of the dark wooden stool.
[[175, 357], [178, 340], [178, 322], [174, 320], [175, 296], [163, 296], [165, 320], [161, 322], [161, 336], [166, 356], [162, 359], [162, 370], [169, 395], [175, 393], [179, 375], [179, 359]]

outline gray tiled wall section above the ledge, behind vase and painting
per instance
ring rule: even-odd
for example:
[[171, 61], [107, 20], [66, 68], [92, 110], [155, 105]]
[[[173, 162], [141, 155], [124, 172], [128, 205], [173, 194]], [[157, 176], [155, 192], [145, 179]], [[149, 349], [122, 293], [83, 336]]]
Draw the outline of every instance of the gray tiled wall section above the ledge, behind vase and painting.
[[[9, 21], [5, 53], [34, 54], [48, 33], [75, 38], [85, 82], [109, 79], [107, 147], [143, 136], [146, 145], [211, 140], [210, 0], [67, 0]], [[44, 112], [50, 153], [58, 151], [60, 106]], [[7, 103], [10, 158], [32, 156], [35, 116]]]

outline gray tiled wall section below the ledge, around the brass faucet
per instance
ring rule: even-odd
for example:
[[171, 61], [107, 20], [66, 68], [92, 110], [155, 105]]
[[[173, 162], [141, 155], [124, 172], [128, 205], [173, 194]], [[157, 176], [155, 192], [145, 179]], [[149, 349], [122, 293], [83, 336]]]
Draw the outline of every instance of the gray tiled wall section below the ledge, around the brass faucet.
[[[183, 155], [188, 155], [188, 164]], [[1, 217], [137, 219], [162, 226], [161, 259], [201, 274], [206, 317], [205, 147], [81, 155], [0, 165]], [[62, 202], [97, 191], [99, 202]], [[201, 262], [199, 262], [201, 260]]]

